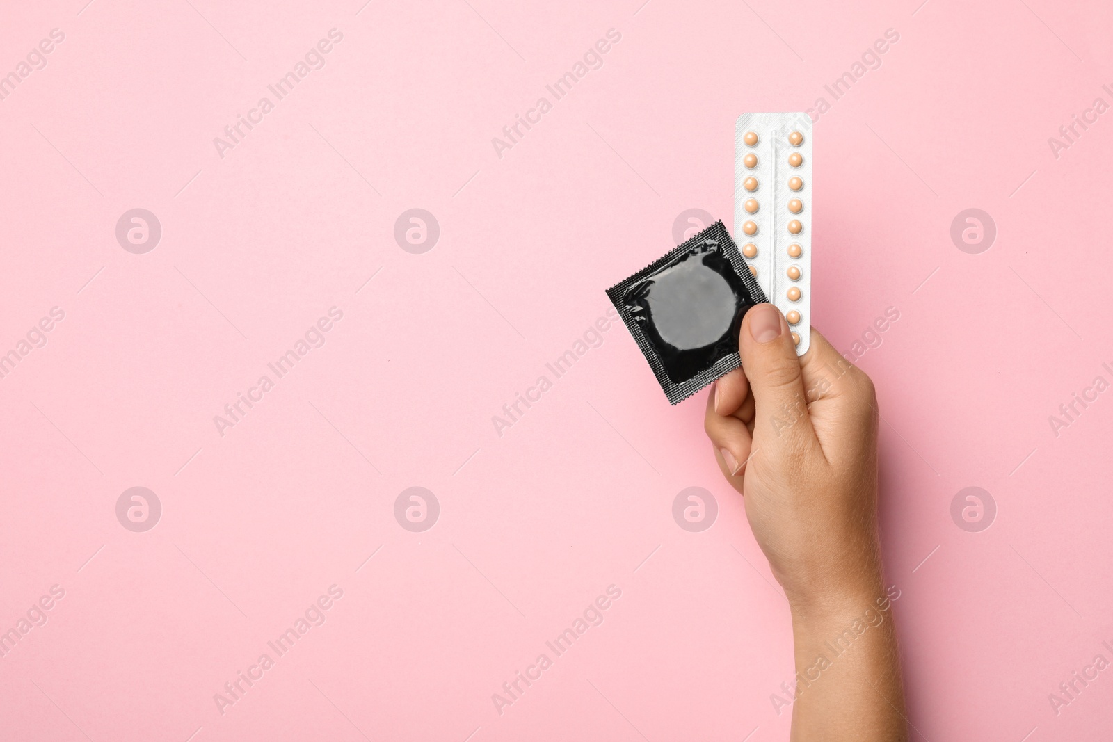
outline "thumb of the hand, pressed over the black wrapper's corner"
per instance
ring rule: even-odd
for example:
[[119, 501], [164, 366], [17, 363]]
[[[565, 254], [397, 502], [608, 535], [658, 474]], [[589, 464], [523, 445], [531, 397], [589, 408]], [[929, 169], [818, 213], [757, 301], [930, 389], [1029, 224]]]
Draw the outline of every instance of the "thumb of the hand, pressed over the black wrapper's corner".
[[780, 309], [771, 304], [758, 304], [746, 313], [738, 353], [754, 395], [755, 451], [814, 442], [800, 362]]

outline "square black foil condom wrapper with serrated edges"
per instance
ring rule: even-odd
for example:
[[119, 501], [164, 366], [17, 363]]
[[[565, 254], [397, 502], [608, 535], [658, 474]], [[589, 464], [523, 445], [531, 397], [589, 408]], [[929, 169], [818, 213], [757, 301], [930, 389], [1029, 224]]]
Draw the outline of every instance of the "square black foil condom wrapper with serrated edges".
[[738, 330], [761, 287], [721, 221], [607, 289], [671, 404], [738, 368]]

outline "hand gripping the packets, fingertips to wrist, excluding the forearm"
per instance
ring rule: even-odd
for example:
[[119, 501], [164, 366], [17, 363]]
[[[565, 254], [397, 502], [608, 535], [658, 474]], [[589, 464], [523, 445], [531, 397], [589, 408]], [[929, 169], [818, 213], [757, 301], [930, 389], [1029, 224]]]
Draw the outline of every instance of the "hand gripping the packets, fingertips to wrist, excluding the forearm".
[[746, 314], [738, 346], [742, 368], [716, 384], [705, 428], [786, 596], [884, 593], [873, 383], [815, 329], [797, 359], [771, 304]]

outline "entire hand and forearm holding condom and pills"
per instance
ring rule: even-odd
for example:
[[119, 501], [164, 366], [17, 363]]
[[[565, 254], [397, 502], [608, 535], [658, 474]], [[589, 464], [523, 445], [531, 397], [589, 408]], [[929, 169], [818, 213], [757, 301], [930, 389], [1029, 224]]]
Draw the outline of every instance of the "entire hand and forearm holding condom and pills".
[[794, 742], [907, 740], [881, 584], [874, 385], [814, 329], [797, 359], [770, 304], [742, 318], [738, 348], [742, 367], [708, 396], [705, 428], [791, 609], [796, 682], [777, 713], [792, 704]]

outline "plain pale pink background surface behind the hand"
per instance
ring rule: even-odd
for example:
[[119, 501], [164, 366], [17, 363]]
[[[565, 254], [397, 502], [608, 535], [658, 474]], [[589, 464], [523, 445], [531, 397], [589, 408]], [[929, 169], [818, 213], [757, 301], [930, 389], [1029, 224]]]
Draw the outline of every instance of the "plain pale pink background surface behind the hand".
[[[65, 597], [0, 659], [0, 736], [787, 739], [788, 611], [703, 395], [670, 407], [621, 326], [562, 378], [545, 364], [678, 215], [731, 226], [739, 113], [824, 97], [812, 314], [880, 396], [913, 738], [1109, 739], [1113, 670], [1057, 715], [1048, 694], [1113, 660], [1113, 393], [1057, 436], [1048, 416], [1113, 382], [1113, 113], [1057, 158], [1048, 137], [1113, 103], [1113, 13], [919, 1], [6, 2], [0, 73], [65, 40], [0, 101], [0, 353], [65, 319], [0, 379], [0, 631]], [[213, 139], [333, 28], [326, 66], [221, 159]], [[144, 255], [116, 239], [132, 208], [162, 228]], [[440, 225], [424, 254], [394, 239], [411, 208]], [[949, 236], [967, 208], [997, 228], [978, 255]], [[334, 306], [221, 436], [214, 416]], [[134, 486], [162, 507], [142, 533], [116, 516]], [[394, 516], [411, 486], [440, 503], [423, 533]], [[691, 486], [718, 503], [699, 533], [672, 517]], [[979, 533], [951, 516], [967, 486], [996, 502]], [[221, 713], [334, 584], [325, 623]], [[612, 584], [500, 715], [492, 694]]]

